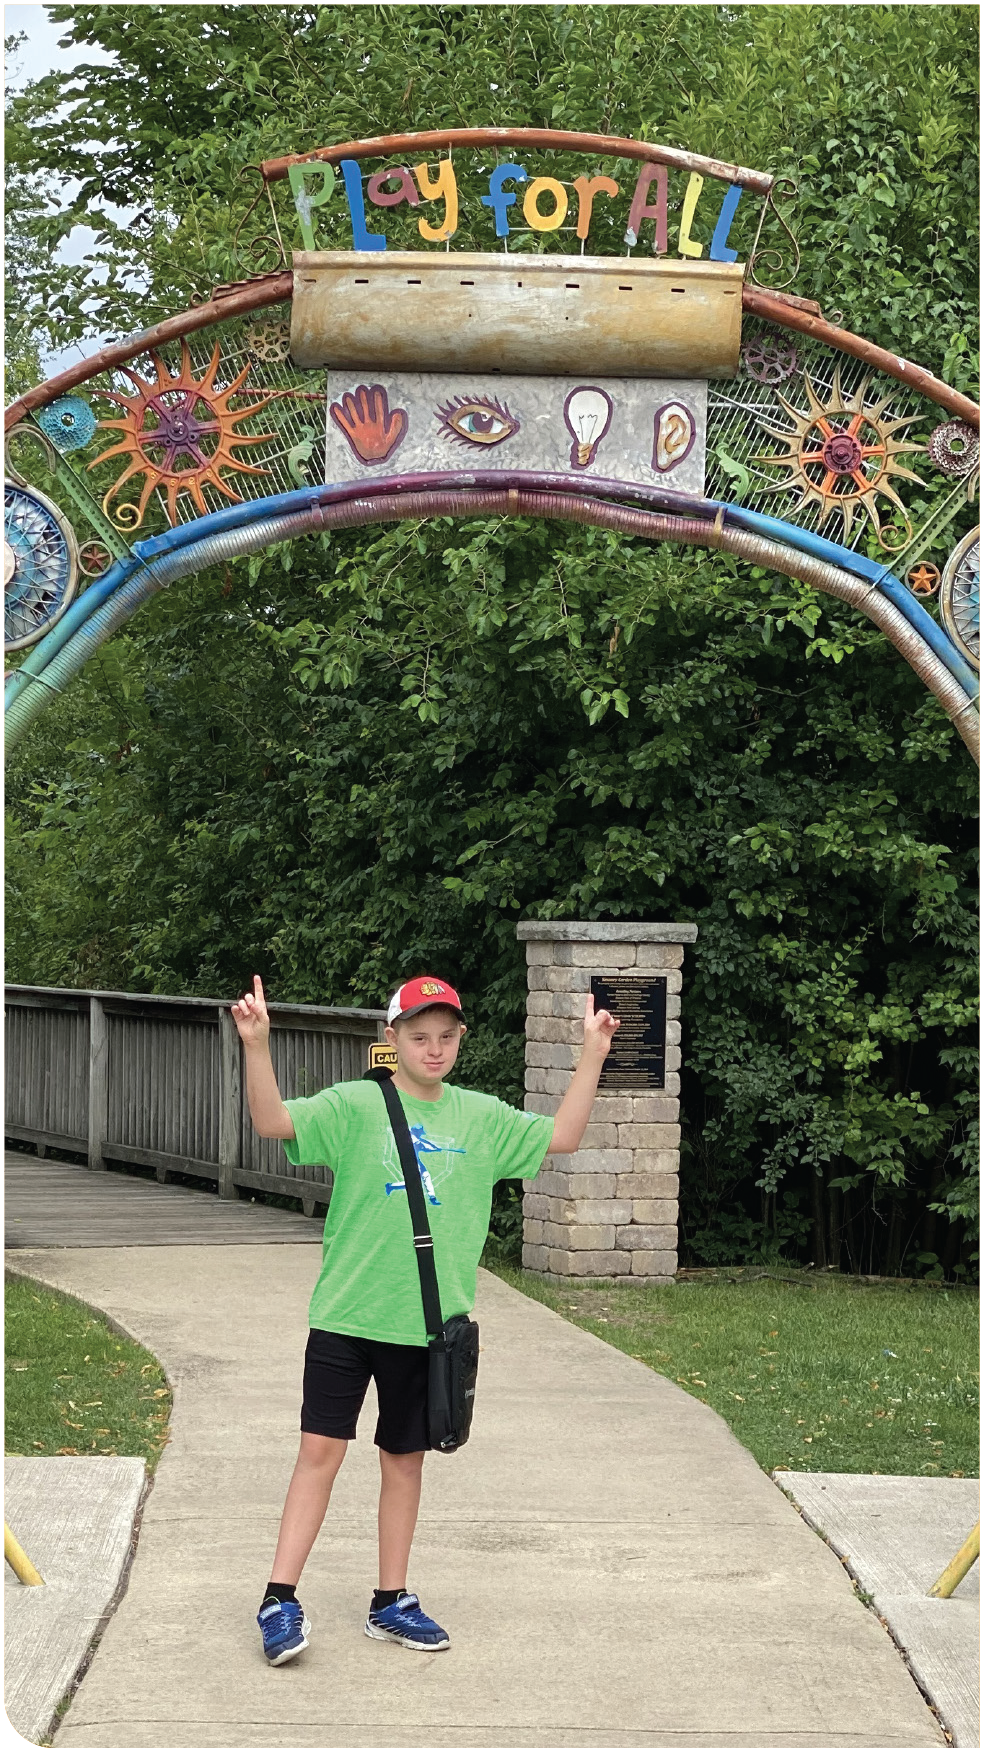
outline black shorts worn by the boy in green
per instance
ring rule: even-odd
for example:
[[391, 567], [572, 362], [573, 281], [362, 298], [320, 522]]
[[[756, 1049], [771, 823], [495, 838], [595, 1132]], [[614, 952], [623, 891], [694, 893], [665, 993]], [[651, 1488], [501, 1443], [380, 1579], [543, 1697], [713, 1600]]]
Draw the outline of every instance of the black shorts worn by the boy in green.
[[312, 1327], [303, 1353], [300, 1429], [353, 1441], [370, 1378], [379, 1422], [375, 1446], [389, 1455], [430, 1448], [426, 1427], [426, 1345], [388, 1345]]

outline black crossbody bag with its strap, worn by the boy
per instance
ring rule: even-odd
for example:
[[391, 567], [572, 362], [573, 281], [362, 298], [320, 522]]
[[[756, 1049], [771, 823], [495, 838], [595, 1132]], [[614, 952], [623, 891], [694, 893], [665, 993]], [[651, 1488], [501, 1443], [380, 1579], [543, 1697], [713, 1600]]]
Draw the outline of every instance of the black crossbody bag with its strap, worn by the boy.
[[400, 1101], [393, 1085], [393, 1073], [379, 1066], [367, 1071], [374, 1083], [379, 1083], [400, 1167], [407, 1189], [407, 1204], [414, 1225], [414, 1252], [417, 1255], [417, 1273], [421, 1274], [421, 1301], [424, 1306], [424, 1329], [428, 1338], [428, 1436], [430, 1446], [442, 1455], [453, 1455], [468, 1441], [472, 1413], [475, 1409], [475, 1380], [479, 1374], [479, 1325], [467, 1315], [453, 1315], [444, 1320], [440, 1313], [440, 1288], [437, 1267], [433, 1264], [433, 1236], [430, 1232], [426, 1199], [417, 1164], [417, 1153]]

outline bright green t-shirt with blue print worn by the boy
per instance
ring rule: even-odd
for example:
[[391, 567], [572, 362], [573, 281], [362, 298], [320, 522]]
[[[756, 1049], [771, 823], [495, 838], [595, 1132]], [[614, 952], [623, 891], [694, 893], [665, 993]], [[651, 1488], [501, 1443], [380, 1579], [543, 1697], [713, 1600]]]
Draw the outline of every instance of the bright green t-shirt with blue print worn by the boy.
[[[437, 1101], [398, 1094], [428, 1201], [440, 1311], [446, 1320], [468, 1315], [493, 1183], [537, 1175], [553, 1120], [454, 1083]], [[310, 1325], [426, 1345], [410, 1210], [382, 1090], [360, 1078], [284, 1106], [295, 1127], [295, 1138], [284, 1139], [288, 1160], [335, 1171]]]

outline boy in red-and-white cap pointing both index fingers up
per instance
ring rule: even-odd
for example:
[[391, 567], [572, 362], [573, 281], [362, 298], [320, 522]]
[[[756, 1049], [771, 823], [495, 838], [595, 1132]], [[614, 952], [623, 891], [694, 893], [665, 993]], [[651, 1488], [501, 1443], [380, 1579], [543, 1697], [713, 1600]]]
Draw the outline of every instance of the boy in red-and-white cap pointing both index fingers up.
[[[379, 1588], [365, 1630], [405, 1650], [447, 1650], [451, 1639], [407, 1592], [428, 1444], [426, 1331], [407, 1190], [382, 1094], [374, 1082], [333, 1083], [282, 1101], [270, 1059], [270, 1017], [260, 975], [232, 1006], [246, 1057], [246, 1094], [261, 1138], [281, 1138], [293, 1164], [335, 1171], [323, 1266], [310, 1299], [303, 1364], [300, 1453], [293, 1471], [258, 1625], [279, 1667], [307, 1650], [310, 1623], [296, 1585], [328, 1509], [335, 1474], [354, 1439], [370, 1376], [379, 1397]], [[521, 1113], [458, 1085], [444, 1085], [465, 1013], [446, 980], [402, 985], [388, 1010], [396, 1048], [393, 1083], [407, 1113], [428, 1201], [440, 1308], [467, 1315], [496, 1180], [533, 1178], [547, 1152], [581, 1145], [617, 1020], [584, 1008], [584, 1048], [554, 1118]]]

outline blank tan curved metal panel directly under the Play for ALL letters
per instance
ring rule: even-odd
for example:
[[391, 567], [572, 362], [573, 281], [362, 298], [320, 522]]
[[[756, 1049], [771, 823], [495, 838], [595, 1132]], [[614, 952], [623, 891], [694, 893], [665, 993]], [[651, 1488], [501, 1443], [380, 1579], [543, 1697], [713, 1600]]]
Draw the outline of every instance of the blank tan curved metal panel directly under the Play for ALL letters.
[[740, 263], [298, 251], [298, 366], [733, 377]]

